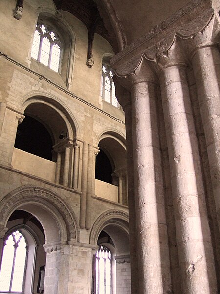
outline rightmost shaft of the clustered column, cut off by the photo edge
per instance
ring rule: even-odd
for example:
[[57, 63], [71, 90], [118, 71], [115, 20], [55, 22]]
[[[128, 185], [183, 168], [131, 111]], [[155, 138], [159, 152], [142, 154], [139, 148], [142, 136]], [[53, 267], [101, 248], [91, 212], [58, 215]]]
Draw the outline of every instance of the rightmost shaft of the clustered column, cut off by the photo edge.
[[199, 47], [192, 59], [220, 231], [220, 54]]

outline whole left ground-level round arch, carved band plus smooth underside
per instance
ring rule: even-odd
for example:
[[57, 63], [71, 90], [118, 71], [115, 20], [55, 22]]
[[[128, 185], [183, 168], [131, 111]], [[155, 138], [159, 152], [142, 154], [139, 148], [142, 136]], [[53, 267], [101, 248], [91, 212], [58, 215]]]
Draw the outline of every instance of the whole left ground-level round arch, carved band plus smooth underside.
[[7, 221], [16, 209], [34, 215], [42, 224], [46, 250], [59, 250], [63, 245], [80, 241], [79, 225], [75, 213], [55, 193], [26, 185], [6, 195], [0, 202], [0, 224], [6, 231]]

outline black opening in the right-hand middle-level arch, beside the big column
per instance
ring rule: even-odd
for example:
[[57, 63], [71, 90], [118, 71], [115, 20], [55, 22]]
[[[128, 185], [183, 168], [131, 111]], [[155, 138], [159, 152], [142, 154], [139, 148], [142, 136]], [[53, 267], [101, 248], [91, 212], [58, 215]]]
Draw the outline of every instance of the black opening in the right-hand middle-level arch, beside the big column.
[[112, 184], [112, 167], [108, 156], [100, 149], [96, 156], [95, 178], [97, 180]]

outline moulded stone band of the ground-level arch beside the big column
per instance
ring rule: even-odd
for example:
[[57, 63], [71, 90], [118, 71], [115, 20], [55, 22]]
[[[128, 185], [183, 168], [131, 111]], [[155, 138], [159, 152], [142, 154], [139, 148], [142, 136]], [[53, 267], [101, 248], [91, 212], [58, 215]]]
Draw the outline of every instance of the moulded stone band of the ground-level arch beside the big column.
[[[101, 214], [98, 219], [94, 222], [91, 233], [90, 233], [90, 238], [89, 238], [89, 243], [90, 244], [97, 244], [98, 236], [101, 232], [101, 230], [108, 225], [108, 223], [114, 223], [118, 224], [123, 229], [128, 233], [128, 213], [122, 210], [108, 210]], [[129, 234], [129, 233], [128, 233]]]

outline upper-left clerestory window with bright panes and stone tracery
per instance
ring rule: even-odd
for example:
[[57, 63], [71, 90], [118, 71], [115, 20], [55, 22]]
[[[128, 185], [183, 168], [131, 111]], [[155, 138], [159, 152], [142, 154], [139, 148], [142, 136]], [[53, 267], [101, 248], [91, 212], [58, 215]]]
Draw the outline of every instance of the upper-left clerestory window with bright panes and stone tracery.
[[31, 57], [59, 72], [61, 61], [61, 42], [57, 32], [46, 24], [38, 24], [34, 33]]

